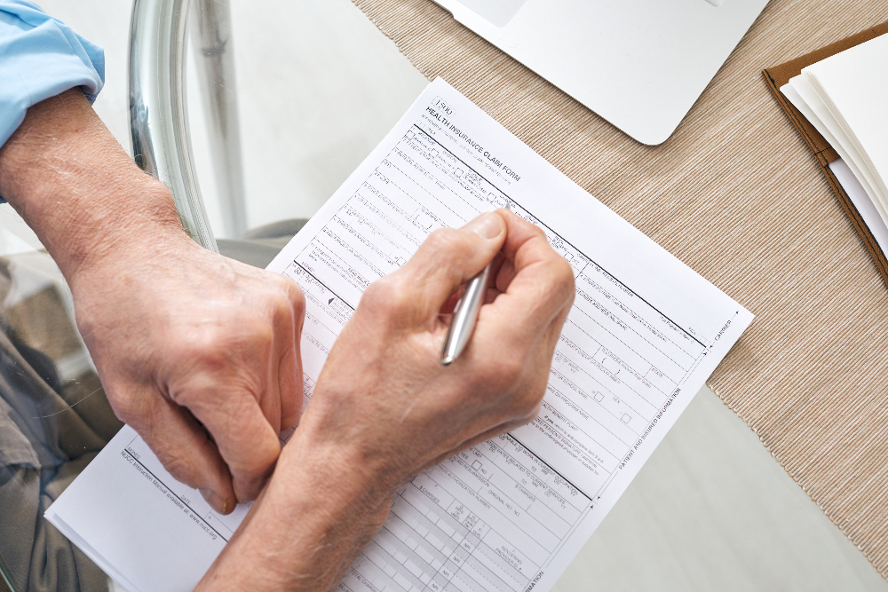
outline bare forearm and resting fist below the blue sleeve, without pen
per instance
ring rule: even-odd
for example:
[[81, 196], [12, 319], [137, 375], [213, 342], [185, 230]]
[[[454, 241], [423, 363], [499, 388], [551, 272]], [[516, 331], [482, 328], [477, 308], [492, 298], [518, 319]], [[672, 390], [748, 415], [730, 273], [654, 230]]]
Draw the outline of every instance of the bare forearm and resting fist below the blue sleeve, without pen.
[[0, 194], [65, 274], [115, 412], [218, 511], [255, 498], [302, 407], [297, 285], [191, 241], [79, 90], [28, 109]]

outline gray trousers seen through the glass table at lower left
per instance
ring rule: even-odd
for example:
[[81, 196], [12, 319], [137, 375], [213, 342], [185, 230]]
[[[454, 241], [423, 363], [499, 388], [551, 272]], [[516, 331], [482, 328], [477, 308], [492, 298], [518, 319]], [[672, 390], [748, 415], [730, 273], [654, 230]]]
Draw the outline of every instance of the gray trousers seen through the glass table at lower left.
[[101, 391], [64, 397], [52, 360], [0, 330], [0, 566], [15, 592], [108, 589], [44, 511], [122, 424]]

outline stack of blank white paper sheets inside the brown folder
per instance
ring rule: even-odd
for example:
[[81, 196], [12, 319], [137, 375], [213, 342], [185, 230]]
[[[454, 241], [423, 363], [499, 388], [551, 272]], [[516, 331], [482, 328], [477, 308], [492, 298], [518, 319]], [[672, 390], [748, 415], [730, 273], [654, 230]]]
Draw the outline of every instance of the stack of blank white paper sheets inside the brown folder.
[[806, 67], [781, 92], [851, 170], [859, 199], [845, 190], [888, 251], [888, 35]]

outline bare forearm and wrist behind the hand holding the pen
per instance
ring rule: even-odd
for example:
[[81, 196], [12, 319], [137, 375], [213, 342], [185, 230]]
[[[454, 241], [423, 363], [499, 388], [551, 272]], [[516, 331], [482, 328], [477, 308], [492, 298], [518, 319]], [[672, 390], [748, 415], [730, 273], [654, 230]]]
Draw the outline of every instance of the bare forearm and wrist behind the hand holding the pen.
[[[305, 429], [304, 429], [305, 428]], [[392, 494], [341, 443], [300, 425], [274, 477], [198, 590], [335, 588], [385, 522]]]

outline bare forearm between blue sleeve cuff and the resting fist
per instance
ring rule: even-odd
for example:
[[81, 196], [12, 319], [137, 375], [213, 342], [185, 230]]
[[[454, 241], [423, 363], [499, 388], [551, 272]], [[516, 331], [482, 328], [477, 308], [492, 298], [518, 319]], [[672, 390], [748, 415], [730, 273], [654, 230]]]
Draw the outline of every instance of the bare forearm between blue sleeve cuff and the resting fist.
[[79, 89], [28, 109], [0, 148], [0, 195], [43, 241], [69, 281], [87, 261], [151, 229], [183, 236], [167, 188], [117, 144]]

